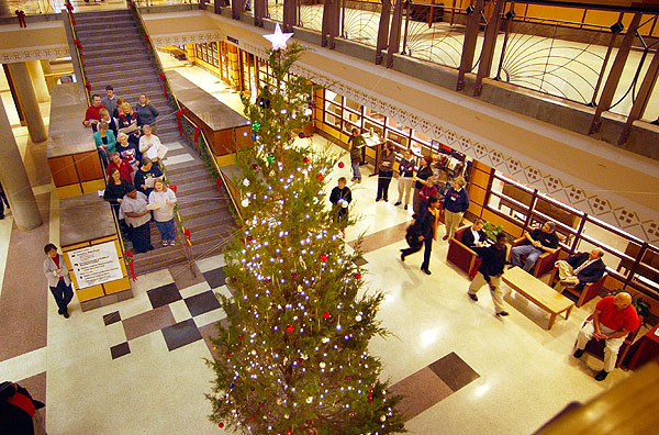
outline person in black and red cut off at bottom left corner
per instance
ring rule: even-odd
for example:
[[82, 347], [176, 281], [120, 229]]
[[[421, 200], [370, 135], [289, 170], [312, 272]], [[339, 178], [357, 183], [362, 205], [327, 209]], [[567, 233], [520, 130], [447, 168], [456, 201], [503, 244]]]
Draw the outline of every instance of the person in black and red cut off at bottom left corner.
[[18, 383], [0, 382], [0, 433], [2, 435], [46, 435], [44, 408]]

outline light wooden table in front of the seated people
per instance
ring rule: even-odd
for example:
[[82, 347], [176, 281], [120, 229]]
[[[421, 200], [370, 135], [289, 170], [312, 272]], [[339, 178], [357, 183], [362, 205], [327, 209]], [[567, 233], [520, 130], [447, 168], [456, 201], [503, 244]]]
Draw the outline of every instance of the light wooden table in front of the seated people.
[[524, 269], [520, 267], [510, 268], [502, 275], [501, 279], [517, 293], [549, 312], [549, 326], [547, 330], [551, 330], [558, 314], [565, 312], [566, 320], [570, 316], [574, 302], [527, 274]]

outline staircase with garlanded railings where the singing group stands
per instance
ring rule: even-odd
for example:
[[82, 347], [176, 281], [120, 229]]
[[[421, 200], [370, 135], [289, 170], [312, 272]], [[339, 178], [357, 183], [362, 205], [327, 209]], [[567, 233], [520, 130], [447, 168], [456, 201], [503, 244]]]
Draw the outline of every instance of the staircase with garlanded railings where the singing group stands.
[[[158, 69], [150, 60], [146, 43], [129, 10], [76, 14], [76, 35], [82, 46], [85, 74], [91, 93], [105, 94], [112, 85], [114, 93], [131, 107], [145, 92], [158, 110], [160, 142], [169, 148], [163, 161], [170, 185], [177, 186], [179, 213], [190, 230], [193, 259], [217, 255], [225, 246], [234, 225], [228, 201], [197, 152], [180, 141], [176, 115], [163, 90]], [[118, 37], [118, 35], [121, 35]], [[163, 247], [159, 232], [152, 223], [155, 250], [134, 254], [136, 275], [186, 264], [183, 244], [177, 232], [176, 246]]]

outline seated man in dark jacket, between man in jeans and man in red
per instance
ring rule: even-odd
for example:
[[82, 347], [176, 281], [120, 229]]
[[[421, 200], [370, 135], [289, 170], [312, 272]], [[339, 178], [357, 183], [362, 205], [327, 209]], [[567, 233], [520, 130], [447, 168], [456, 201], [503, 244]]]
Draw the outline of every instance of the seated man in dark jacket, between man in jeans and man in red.
[[566, 287], [574, 286], [577, 290], [581, 290], [588, 282], [599, 281], [606, 271], [603, 256], [604, 252], [595, 248], [590, 254], [577, 253], [556, 261], [559, 281], [554, 288], [563, 291]]

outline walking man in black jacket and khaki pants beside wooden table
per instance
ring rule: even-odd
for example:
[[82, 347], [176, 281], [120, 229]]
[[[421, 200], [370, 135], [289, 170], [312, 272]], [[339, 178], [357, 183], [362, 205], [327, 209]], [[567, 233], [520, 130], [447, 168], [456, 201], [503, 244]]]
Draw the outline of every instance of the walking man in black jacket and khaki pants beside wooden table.
[[505, 316], [509, 315], [507, 311], [503, 309], [503, 291], [501, 291], [501, 276], [503, 275], [503, 267], [505, 266], [506, 248], [505, 243], [507, 237], [503, 233], [496, 235], [496, 243], [481, 253], [482, 263], [478, 268], [478, 274], [469, 286], [469, 298], [472, 301], [478, 301], [476, 293], [488, 285], [492, 294], [492, 302], [494, 302], [494, 312], [496, 315]]

